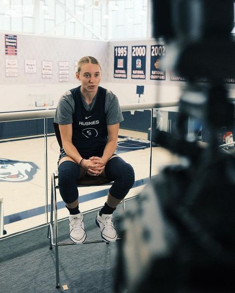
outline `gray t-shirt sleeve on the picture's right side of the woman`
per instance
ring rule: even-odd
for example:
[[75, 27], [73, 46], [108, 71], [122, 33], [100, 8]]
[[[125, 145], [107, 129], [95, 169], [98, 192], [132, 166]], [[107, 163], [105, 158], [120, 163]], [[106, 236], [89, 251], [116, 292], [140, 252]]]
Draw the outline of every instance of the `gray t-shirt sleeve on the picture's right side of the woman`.
[[117, 96], [109, 90], [106, 92], [105, 113], [107, 125], [117, 124], [124, 120]]

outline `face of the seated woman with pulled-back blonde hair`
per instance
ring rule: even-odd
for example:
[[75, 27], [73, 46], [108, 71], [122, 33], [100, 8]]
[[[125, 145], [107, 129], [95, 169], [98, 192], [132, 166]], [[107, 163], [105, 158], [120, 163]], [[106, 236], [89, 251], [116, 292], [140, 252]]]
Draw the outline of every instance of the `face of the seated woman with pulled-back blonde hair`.
[[96, 93], [101, 80], [100, 66], [93, 63], [83, 64], [77, 73], [77, 79], [81, 81], [83, 92]]

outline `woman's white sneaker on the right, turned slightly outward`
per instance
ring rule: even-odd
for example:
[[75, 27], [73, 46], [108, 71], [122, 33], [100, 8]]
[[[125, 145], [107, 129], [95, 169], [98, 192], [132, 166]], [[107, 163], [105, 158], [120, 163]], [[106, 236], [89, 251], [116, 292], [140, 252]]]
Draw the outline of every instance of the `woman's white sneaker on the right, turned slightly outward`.
[[102, 216], [96, 216], [96, 225], [100, 227], [101, 237], [105, 242], [115, 242], [117, 240], [117, 231], [114, 228], [112, 222], [112, 215], [103, 214]]

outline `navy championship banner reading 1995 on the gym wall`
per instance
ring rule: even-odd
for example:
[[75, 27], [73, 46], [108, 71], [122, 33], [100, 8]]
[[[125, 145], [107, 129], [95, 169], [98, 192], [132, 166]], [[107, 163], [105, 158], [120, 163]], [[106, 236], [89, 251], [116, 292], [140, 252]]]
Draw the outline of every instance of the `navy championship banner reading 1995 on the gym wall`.
[[114, 47], [114, 78], [127, 78], [127, 49]]

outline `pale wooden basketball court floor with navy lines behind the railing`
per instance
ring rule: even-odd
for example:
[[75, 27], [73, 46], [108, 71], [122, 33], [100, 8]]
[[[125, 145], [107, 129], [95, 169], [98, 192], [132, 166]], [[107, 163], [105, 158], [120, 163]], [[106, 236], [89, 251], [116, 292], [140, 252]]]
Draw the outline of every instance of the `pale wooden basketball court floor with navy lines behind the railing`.
[[[0, 198], [3, 199], [4, 230], [7, 235], [47, 223], [45, 145], [47, 145], [48, 203], [51, 197], [51, 174], [57, 170], [59, 145], [55, 135], [26, 137], [0, 141]], [[137, 195], [149, 180], [150, 142], [147, 133], [119, 130], [117, 154], [131, 164], [135, 171], [135, 184], [127, 197]], [[164, 166], [177, 162], [177, 157], [162, 147], [152, 148], [151, 176]], [[121, 171], [120, 171], [121, 172]], [[79, 188], [79, 209], [85, 212], [102, 206], [108, 186]], [[58, 192], [59, 194], [59, 192]], [[59, 219], [68, 211], [58, 196]]]

